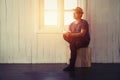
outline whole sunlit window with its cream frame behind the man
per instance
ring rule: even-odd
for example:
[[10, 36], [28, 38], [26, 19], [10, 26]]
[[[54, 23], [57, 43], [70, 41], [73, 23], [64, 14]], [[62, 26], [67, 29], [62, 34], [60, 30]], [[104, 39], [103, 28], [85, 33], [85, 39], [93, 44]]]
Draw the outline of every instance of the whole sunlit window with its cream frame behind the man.
[[85, 0], [35, 0], [35, 26], [37, 33], [62, 33], [74, 21], [76, 6], [85, 12]]

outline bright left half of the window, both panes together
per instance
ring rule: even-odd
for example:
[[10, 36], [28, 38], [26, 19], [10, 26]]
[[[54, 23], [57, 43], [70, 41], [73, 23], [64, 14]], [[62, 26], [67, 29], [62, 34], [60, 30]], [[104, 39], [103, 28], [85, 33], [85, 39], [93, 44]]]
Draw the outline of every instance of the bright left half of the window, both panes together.
[[44, 1], [44, 24], [56, 25], [58, 24], [58, 4], [57, 0], [45, 0]]

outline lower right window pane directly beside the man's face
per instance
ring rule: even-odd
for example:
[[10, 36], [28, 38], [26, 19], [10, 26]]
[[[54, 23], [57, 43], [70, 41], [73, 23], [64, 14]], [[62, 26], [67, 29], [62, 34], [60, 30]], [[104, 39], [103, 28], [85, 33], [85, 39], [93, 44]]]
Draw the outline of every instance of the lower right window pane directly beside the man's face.
[[73, 12], [65, 12], [64, 13], [64, 25], [69, 25], [71, 22], [74, 21]]

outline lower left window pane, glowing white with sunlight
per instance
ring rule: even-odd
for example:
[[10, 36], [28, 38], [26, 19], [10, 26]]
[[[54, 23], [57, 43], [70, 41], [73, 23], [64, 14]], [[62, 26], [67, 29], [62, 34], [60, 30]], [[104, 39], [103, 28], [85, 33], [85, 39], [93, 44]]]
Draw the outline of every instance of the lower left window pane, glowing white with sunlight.
[[44, 25], [57, 25], [57, 12], [45, 11]]

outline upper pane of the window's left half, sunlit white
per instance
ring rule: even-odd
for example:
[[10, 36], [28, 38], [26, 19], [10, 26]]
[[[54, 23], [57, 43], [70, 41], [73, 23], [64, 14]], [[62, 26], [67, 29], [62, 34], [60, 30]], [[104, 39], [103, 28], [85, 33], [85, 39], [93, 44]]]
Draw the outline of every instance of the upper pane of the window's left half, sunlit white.
[[45, 9], [57, 9], [57, 0], [44, 0]]

